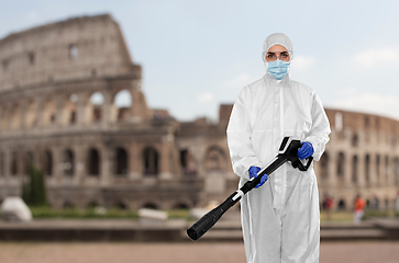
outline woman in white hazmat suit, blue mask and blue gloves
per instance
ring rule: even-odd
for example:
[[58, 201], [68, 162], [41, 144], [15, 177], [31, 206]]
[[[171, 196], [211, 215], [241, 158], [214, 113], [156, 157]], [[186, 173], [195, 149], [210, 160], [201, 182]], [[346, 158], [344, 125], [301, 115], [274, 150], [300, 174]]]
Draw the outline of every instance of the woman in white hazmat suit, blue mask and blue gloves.
[[[300, 159], [313, 156], [318, 161], [331, 133], [315, 92], [289, 78], [291, 41], [281, 33], [268, 36], [262, 57], [266, 75], [241, 91], [226, 130], [240, 186], [274, 160], [284, 137], [302, 141]], [[319, 262], [320, 211], [313, 165], [302, 172], [285, 163], [266, 180], [241, 201], [247, 262]]]

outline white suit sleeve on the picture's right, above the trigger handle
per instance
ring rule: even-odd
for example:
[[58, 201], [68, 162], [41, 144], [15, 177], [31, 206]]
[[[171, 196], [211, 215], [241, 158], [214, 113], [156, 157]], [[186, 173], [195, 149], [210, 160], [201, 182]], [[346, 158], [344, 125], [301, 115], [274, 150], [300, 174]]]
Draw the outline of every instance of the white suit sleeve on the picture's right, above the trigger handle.
[[319, 161], [324, 152], [326, 142], [329, 142], [331, 130], [329, 119], [318, 94], [313, 92], [312, 96], [312, 129], [304, 141], [312, 144], [314, 149], [313, 158], [315, 161]]

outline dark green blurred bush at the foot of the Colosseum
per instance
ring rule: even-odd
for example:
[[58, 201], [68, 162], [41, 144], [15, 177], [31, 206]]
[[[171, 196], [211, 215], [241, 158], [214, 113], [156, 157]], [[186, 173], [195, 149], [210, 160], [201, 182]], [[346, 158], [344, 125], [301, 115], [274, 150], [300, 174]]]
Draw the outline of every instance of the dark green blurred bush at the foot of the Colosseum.
[[47, 206], [44, 174], [33, 165], [29, 168], [29, 180], [22, 185], [22, 199], [29, 206]]

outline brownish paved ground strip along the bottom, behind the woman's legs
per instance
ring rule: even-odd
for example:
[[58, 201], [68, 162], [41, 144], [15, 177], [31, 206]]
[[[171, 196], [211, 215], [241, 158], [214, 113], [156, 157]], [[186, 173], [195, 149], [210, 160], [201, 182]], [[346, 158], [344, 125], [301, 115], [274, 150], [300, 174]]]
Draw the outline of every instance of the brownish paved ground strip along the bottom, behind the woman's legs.
[[[397, 263], [399, 242], [322, 242], [320, 263]], [[245, 263], [235, 243], [8, 243], [1, 263]]]

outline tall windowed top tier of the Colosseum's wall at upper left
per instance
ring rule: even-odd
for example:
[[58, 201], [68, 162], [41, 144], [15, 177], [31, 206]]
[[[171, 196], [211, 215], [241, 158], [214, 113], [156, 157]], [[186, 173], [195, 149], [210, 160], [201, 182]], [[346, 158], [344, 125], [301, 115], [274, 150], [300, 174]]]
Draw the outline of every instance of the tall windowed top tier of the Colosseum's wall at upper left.
[[[1, 91], [115, 77], [134, 68], [110, 15], [70, 19], [11, 34], [0, 41], [0, 62]], [[135, 71], [140, 75], [140, 69]]]

